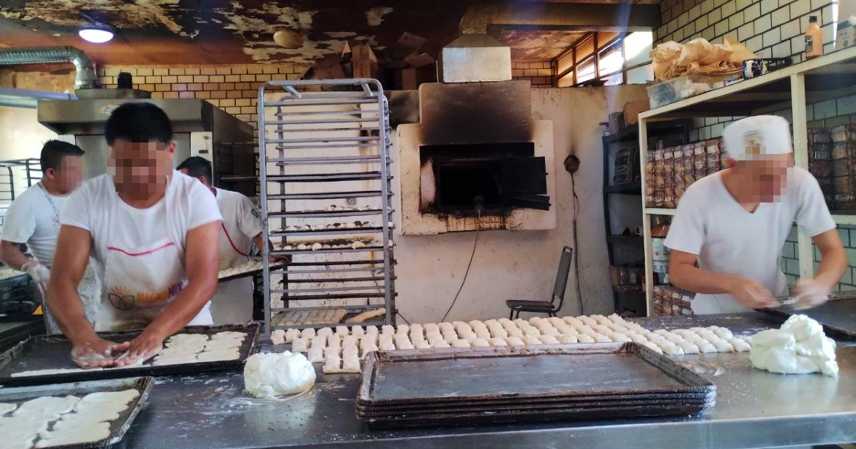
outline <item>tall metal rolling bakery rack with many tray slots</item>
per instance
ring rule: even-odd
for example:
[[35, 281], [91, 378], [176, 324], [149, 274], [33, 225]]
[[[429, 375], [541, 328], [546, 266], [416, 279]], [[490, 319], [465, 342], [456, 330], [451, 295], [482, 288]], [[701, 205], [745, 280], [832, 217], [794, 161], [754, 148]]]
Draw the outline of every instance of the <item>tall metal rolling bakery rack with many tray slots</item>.
[[[377, 80], [259, 89], [265, 332], [394, 323], [389, 106]], [[290, 255], [287, 268], [268, 256]]]

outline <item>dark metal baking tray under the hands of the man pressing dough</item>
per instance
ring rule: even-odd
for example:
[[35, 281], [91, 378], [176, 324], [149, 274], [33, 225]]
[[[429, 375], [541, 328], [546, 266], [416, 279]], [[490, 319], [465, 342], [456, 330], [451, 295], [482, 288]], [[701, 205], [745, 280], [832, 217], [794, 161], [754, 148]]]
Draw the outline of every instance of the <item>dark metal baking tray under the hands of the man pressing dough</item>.
[[[71, 342], [62, 335], [39, 335], [21, 341], [9, 351], [0, 354], [0, 385], [15, 387], [39, 385], [56, 382], [93, 381], [97, 379], [115, 379], [117, 377], [139, 375], [191, 375], [205, 371], [223, 371], [241, 369], [247, 357], [255, 350], [256, 338], [259, 335], [259, 323], [227, 324], [223, 326], [192, 326], [181, 329], [177, 334], [217, 334], [223, 331], [246, 332], [247, 339], [241, 345], [241, 357], [235, 360], [217, 362], [181, 363], [175, 365], [152, 365], [148, 361], [140, 366], [128, 368], [113, 368], [88, 370], [74, 373], [54, 375], [28, 375], [12, 377], [12, 373], [35, 369], [68, 369], [77, 368], [71, 360]], [[116, 342], [133, 340], [142, 331], [124, 333], [99, 333], [105, 340]]]

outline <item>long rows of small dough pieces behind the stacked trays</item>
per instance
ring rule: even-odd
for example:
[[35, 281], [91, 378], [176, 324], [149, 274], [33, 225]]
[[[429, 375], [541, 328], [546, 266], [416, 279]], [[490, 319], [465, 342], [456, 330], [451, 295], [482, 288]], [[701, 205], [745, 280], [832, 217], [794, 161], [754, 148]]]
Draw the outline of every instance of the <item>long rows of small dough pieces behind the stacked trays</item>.
[[[593, 325], [593, 326], [590, 326]], [[672, 332], [658, 329], [654, 332], [636, 323], [625, 322], [620, 316], [580, 316], [565, 318], [532, 318], [525, 320], [488, 320], [487, 322], [443, 322], [397, 329], [383, 326], [338, 326], [315, 329], [288, 329], [271, 336], [274, 344], [291, 343], [295, 352], [309, 352], [318, 347], [322, 357], [324, 345], [330, 337], [355, 337], [360, 340], [360, 357], [367, 352], [394, 351], [395, 349], [428, 349], [448, 347], [526, 346], [568, 343], [607, 343], [634, 341], [654, 352], [668, 355], [697, 354], [699, 352], [748, 351], [746, 341], [734, 337], [727, 328], [678, 329]], [[334, 344], [335, 345], [335, 344]], [[315, 358], [318, 358], [315, 357]], [[318, 360], [321, 361], [321, 360]]]

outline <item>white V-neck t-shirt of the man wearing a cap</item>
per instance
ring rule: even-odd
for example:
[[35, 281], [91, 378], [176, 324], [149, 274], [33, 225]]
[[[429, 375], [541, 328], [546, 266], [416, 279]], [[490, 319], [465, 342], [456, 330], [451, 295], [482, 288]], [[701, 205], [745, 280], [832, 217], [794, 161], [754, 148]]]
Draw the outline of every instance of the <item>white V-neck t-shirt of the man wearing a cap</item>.
[[[722, 173], [687, 188], [665, 245], [697, 255], [701, 269], [751, 278], [776, 296], [787, 295], [788, 281], [780, 259], [794, 221], [809, 237], [835, 228], [817, 180], [805, 169], [793, 168], [782, 198], [761, 203], [749, 213], [728, 192]], [[697, 314], [746, 310], [728, 294], [698, 294], [693, 299]]]

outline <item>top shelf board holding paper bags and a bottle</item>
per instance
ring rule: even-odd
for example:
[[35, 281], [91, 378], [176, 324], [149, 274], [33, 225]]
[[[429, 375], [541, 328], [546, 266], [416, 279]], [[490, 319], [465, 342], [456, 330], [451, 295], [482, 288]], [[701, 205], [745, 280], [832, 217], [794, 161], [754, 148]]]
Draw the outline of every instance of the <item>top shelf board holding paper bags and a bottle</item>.
[[684, 98], [639, 114], [643, 119], [675, 119], [704, 116], [744, 116], [753, 110], [790, 108], [790, 76], [805, 76], [807, 103], [834, 96], [834, 91], [847, 90], [856, 84], [856, 70], [848, 62], [856, 61], [856, 47], [837, 50], [799, 64], [764, 74], [751, 80]]

